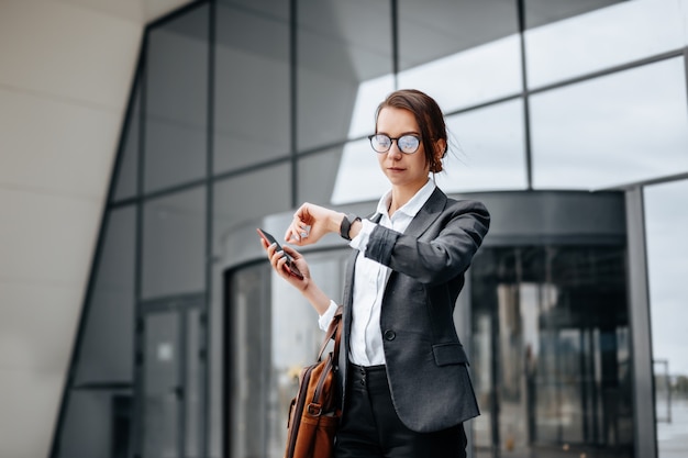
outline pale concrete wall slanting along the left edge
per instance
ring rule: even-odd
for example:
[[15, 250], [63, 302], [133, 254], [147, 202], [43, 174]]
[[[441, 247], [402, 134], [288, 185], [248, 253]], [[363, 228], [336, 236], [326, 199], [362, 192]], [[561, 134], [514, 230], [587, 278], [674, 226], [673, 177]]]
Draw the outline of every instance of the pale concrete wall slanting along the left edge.
[[0, 0], [0, 457], [46, 457], [145, 23], [181, 0]]

